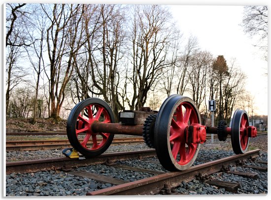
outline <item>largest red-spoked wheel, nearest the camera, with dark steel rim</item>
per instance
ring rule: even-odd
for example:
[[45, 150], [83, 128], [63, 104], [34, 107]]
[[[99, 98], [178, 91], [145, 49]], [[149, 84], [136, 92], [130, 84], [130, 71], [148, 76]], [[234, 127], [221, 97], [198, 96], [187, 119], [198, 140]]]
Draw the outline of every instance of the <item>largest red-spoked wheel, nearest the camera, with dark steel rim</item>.
[[186, 141], [186, 129], [201, 123], [192, 99], [174, 94], [162, 104], [156, 118], [154, 142], [157, 157], [168, 171], [183, 171], [196, 160], [200, 144]]

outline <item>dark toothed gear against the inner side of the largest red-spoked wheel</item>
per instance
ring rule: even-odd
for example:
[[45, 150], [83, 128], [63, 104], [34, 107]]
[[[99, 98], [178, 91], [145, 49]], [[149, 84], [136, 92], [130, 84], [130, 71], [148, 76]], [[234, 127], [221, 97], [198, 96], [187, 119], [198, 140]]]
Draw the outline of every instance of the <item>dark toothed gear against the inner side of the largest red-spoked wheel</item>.
[[144, 141], [146, 145], [150, 148], [155, 148], [154, 146], [154, 125], [156, 121], [156, 114], [151, 114], [149, 115], [145, 123], [143, 125], [143, 132], [142, 136], [144, 138]]

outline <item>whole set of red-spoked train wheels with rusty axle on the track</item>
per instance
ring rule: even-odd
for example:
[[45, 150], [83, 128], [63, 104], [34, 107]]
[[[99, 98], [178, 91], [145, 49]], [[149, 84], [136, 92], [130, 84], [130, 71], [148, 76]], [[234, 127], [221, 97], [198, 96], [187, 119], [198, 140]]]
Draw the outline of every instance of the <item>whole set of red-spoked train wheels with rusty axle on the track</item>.
[[236, 154], [245, 153], [249, 138], [257, 136], [256, 128], [249, 126], [248, 114], [242, 110], [236, 110], [231, 127], [225, 121], [219, 121], [217, 127], [203, 126], [193, 100], [178, 94], [169, 96], [159, 112], [123, 111], [119, 120], [115, 123], [110, 106], [102, 99], [85, 99], [68, 116], [68, 140], [85, 157], [95, 157], [110, 146], [115, 134], [143, 136], [146, 145], [156, 149], [166, 170], [183, 171], [196, 160], [206, 133], [217, 134], [220, 141], [231, 135]]

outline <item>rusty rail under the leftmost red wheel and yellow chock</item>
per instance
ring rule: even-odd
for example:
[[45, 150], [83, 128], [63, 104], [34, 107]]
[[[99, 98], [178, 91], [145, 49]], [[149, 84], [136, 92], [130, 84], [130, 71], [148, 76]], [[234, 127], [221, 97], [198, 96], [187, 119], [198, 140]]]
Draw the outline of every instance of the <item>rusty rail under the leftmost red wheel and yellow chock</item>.
[[88, 165], [103, 164], [106, 162], [115, 162], [117, 160], [127, 160], [133, 158], [145, 158], [156, 156], [154, 149], [141, 151], [128, 151], [117, 153], [106, 153], [95, 158], [49, 158], [41, 160], [16, 161], [6, 163], [6, 174], [13, 172], [30, 173], [36, 171], [49, 171], [71, 169]]

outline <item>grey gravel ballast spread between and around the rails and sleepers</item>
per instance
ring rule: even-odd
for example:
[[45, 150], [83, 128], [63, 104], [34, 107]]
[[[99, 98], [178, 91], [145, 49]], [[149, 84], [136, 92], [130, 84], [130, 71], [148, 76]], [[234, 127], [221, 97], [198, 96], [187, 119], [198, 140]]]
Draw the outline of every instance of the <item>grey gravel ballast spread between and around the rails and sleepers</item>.
[[[266, 136], [267, 137], [267, 136]], [[230, 140], [228, 139], [229, 143]], [[267, 141], [267, 140], [266, 140]], [[221, 147], [224, 145], [223, 147]], [[252, 145], [254, 146], [254, 145]], [[267, 146], [267, 144], [266, 144]], [[133, 144], [133, 145], [120, 145], [110, 146], [108, 152], [120, 152], [120, 151], [135, 151], [140, 149], [149, 149], [145, 144]], [[267, 147], [266, 147], [267, 149]], [[48, 150], [48, 151], [22, 151], [22, 152], [6, 152], [6, 161], [14, 160], [27, 160], [27, 158], [41, 159], [48, 157], [63, 157], [62, 150]], [[31, 156], [30, 156], [31, 155]], [[227, 156], [234, 155], [234, 152], [229, 147], [227, 149], [227, 143], [214, 141], [214, 144], [210, 144], [209, 141], [202, 145], [198, 154], [197, 160], [194, 165], [198, 165], [204, 162], [217, 160]], [[260, 151], [258, 160], [267, 161], [267, 151]], [[117, 161], [117, 164], [125, 164], [133, 167], [146, 168], [151, 170], [166, 171], [159, 163], [156, 157], [148, 159], [134, 159], [127, 161]], [[248, 160], [246, 165], [259, 165], [256, 161]], [[211, 179], [227, 180], [231, 182], [240, 183], [240, 188], [237, 189], [236, 194], [267, 194], [268, 193], [268, 180], [267, 172], [253, 170], [250, 168], [242, 168], [237, 166], [229, 166], [232, 171], [247, 171], [257, 172], [258, 179], [244, 178], [241, 176], [228, 174], [225, 172], [218, 172], [210, 175]], [[109, 183], [99, 183], [91, 178], [83, 178], [73, 174], [71, 172], [76, 171], [88, 171], [91, 173], [101, 174], [105, 176], [111, 176], [124, 181], [135, 181], [142, 178], [153, 176], [153, 174], [146, 172], [135, 172], [129, 170], [116, 169], [106, 165], [93, 165], [87, 167], [80, 167], [73, 169], [70, 172], [65, 171], [41, 171], [35, 173], [11, 173], [6, 175], [6, 196], [85, 196], [87, 192], [99, 190], [102, 188], [111, 187]], [[192, 180], [189, 182], [182, 181], [176, 192], [182, 195], [214, 195], [214, 194], [235, 194], [226, 191], [225, 189], [219, 189], [215, 186], [211, 186], [207, 183], [199, 180]]]

